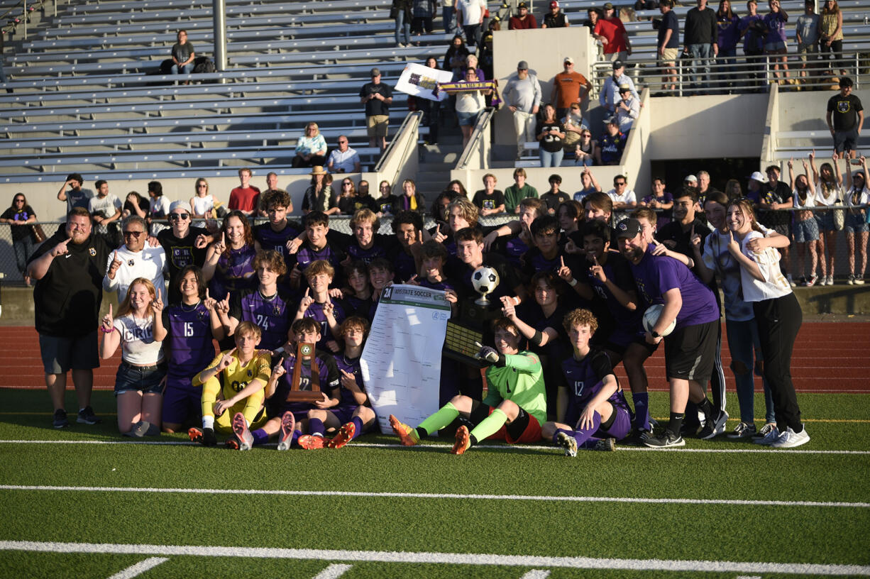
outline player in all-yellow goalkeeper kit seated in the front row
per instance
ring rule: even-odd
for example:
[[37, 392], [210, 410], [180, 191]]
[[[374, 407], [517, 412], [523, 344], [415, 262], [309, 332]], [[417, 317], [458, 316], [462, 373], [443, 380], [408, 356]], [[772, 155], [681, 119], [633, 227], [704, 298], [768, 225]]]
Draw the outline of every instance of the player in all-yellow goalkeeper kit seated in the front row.
[[[193, 376], [193, 385], [203, 387], [203, 429], [190, 429], [195, 443], [214, 446], [215, 430], [234, 433], [227, 446], [250, 450], [250, 441], [242, 440], [238, 432], [255, 427], [265, 420], [263, 389], [271, 375], [269, 352], [257, 349], [262, 333], [251, 322], [241, 322], [235, 332], [236, 347], [221, 352], [208, 368]], [[221, 400], [218, 400], [221, 396]]]

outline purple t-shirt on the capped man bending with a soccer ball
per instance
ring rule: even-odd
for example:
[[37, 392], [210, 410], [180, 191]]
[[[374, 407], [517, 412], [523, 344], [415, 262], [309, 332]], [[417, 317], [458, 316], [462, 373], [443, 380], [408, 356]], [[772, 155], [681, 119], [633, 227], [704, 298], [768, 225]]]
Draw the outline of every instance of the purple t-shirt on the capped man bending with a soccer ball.
[[673, 257], [653, 256], [653, 248], [651, 243], [640, 263], [631, 264], [634, 284], [646, 307], [653, 303], [665, 303], [662, 297], [665, 292], [677, 288], [683, 298], [683, 307], [677, 314], [677, 328], [719, 320], [719, 306], [716, 305], [713, 290]]

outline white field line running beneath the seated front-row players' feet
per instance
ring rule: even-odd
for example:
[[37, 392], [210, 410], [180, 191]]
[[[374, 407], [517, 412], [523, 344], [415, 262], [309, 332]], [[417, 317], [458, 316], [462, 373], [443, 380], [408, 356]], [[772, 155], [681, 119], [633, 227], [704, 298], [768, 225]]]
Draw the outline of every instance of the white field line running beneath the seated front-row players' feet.
[[[0, 444], [144, 444], [151, 446], [199, 446], [198, 443], [191, 443], [188, 441], [160, 441], [160, 440], [0, 440]], [[737, 443], [740, 444], [740, 443]], [[264, 447], [274, 447], [277, 443], [268, 443], [264, 444]], [[371, 448], [371, 449], [405, 449], [406, 451], [413, 452], [414, 449], [426, 449], [426, 448], [443, 448], [449, 449], [452, 446], [452, 443], [436, 443], [436, 442], [428, 442], [425, 444], [419, 444], [417, 447], [406, 447], [399, 443], [389, 444], [389, 443], [351, 443], [348, 444], [345, 449], [350, 449], [355, 446]], [[739, 449], [650, 449], [646, 447], [635, 447], [635, 446], [617, 446], [619, 452], [630, 450], [634, 452], [704, 452], [704, 453], [719, 453], [719, 454], [766, 454], [766, 453], [774, 453], [779, 455], [870, 455], [870, 450], [807, 450], [807, 449], [765, 449], [765, 448], [754, 448], [750, 446], [746, 446], [741, 444], [741, 446], [745, 446], [746, 448]], [[544, 445], [532, 445], [532, 444], [478, 444], [474, 447], [475, 449], [488, 449], [488, 450], [503, 450], [503, 451], [519, 451], [519, 450], [552, 450], [553, 454], [562, 454], [561, 449], [555, 446], [544, 446]]]

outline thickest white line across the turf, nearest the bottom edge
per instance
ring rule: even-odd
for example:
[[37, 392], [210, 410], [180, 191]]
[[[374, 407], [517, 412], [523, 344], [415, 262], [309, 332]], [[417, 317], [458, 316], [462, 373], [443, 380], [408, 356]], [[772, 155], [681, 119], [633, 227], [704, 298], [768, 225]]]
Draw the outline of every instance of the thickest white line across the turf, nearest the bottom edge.
[[251, 557], [320, 561], [365, 561], [386, 563], [442, 563], [452, 565], [506, 565], [510, 567], [557, 567], [566, 569], [629, 569], [718, 573], [790, 573], [800, 575], [870, 576], [870, 566], [797, 562], [690, 561], [668, 559], [605, 559], [505, 555], [499, 553], [432, 553], [412, 551], [359, 551], [339, 549], [279, 549], [191, 545], [127, 545], [84, 542], [0, 541], [0, 550], [46, 553], [97, 553], [112, 555], [163, 555]]

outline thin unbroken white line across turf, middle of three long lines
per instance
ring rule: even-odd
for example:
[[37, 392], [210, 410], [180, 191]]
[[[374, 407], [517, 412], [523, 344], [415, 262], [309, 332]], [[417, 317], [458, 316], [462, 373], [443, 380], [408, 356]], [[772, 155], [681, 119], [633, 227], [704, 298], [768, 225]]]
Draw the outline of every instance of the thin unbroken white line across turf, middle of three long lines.
[[452, 493], [366, 492], [362, 490], [289, 490], [289, 489], [158, 489], [153, 487], [85, 487], [37, 484], [0, 484], [0, 490], [43, 490], [53, 492], [104, 493], [178, 493], [187, 495], [278, 495], [278, 496], [361, 496], [366, 498], [469, 499], [480, 501], [541, 502], [639, 502], [649, 504], [724, 504], [763, 507], [836, 507], [870, 509], [870, 502], [833, 501], [761, 501], [749, 499], [642, 498], [633, 496], [547, 496], [547, 495], [474, 495]]

